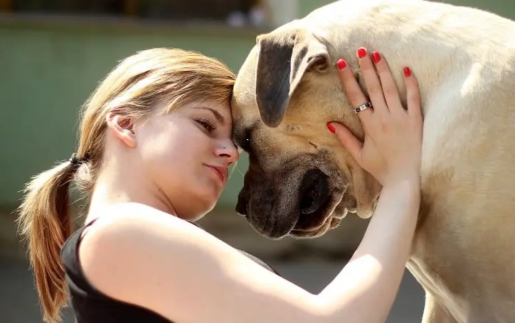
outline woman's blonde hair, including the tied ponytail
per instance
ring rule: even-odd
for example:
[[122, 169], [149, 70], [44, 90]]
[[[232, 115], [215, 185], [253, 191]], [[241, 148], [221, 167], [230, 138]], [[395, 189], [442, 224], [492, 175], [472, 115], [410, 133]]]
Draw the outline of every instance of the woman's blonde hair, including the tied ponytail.
[[131, 119], [150, 114], [157, 105], [165, 112], [192, 101], [229, 101], [235, 75], [216, 59], [196, 52], [154, 48], [123, 59], [99, 84], [83, 106], [76, 169], [59, 163], [32, 178], [19, 207], [19, 232], [28, 244], [28, 257], [45, 322], [59, 322], [68, 287], [61, 248], [73, 231], [70, 181], [91, 194], [101, 169], [105, 117], [117, 112]]

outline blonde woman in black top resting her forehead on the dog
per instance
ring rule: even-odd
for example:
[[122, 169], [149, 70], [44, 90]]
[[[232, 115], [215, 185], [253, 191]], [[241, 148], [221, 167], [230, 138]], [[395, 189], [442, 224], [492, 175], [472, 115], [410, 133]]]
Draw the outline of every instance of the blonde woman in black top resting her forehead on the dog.
[[[422, 117], [409, 68], [404, 110], [385, 60], [372, 57], [359, 59], [373, 103], [358, 114], [364, 144], [342, 125], [327, 127], [383, 190], [352, 260], [318, 295], [192, 225], [214, 207], [239, 157], [234, 74], [184, 50], [121, 61], [85, 105], [77, 154], [34, 178], [21, 205], [45, 320], [57, 322], [69, 288], [79, 323], [383, 322], [416, 223]], [[365, 103], [345, 61], [337, 67], [352, 104]], [[73, 179], [90, 205], [72, 234]]]

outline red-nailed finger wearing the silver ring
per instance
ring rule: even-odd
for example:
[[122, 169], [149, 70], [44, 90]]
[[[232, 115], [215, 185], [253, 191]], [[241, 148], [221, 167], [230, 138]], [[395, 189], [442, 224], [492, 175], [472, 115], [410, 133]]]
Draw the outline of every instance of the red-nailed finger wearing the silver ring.
[[[343, 91], [352, 107], [359, 107], [360, 105], [367, 103], [367, 97], [363, 94], [363, 91], [361, 91], [361, 87], [359, 86], [358, 81], [356, 81], [352, 70], [347, 66], [347, 62], [340, 59], [336, 65], [338, 66], [340, 81], [343, 83]], [[370, 118], [371, 114], [372, 109], [368, 108], [359, 112], [358, 116], [362, 123], [366, 123], [367, 118]]]

